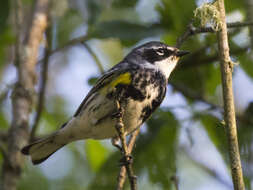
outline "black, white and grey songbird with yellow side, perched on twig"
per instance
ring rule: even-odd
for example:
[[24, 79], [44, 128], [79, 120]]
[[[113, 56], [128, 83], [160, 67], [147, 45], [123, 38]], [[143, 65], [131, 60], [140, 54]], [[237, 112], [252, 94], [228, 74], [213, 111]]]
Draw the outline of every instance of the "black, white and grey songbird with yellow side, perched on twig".
[[40, 164], [73, 141], [118, 137], [116, 100], [124, 110], [125, 135], [138, 129], [159, 107], [169, 76], [179, 59], [188, 54], [160, 41], [134, 48], [105, 72], [88, 92], [74, 115], [59, 130], [21, 149], [33, 164]]

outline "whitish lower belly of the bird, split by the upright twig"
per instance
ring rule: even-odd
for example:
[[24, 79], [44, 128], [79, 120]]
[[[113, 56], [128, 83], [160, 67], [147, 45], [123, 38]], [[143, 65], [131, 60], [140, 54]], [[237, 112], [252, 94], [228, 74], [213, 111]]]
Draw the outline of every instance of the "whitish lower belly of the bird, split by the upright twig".
[[[149, 91], [150, 92], [150, 91]], [[141, 118], [143, 109], [152, 104], [152, 99], [157, 96], [156, 91], [152, 91], [149, 98], [143, 101], [130, 99], [127, 105], [123, 105], [123, 123], [126, 134], [137, 129], [143, 121]], [[73, 118], [63, 129], [68, 134], [78, 139], [106, 139], [117, 136], [115, 129], [116, 119], [113, 117], [117, 111], [115, 102], [98, 95], [95, 101], [89, 103], [80, 116]]]

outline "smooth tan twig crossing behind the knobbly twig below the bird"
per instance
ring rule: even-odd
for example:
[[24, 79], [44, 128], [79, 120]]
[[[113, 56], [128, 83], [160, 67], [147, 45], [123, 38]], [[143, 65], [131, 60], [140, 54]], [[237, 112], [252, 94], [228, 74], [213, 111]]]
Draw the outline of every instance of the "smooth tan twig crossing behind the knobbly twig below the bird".
[[[127, 147], [128, 147], [129, 154], [132, 153], [136, 138], [139, 133], [140, 133], [140, 128], [132, 133], [132, 135], [128, 141]], [[116, 188], [117, 190], [123, 189], [125, 180], [126, 180], [126, 168], [125, 168], [125, 166], [121, 166], [120, 171], [119, 171], [119, 175], [118, 175], [118, 184], [117, 184], [117, 188]]]

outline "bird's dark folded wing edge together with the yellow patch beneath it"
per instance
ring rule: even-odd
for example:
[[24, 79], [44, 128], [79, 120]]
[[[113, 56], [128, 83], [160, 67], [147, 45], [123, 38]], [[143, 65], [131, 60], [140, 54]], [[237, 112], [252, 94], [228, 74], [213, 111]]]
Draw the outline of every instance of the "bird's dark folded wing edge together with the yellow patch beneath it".
[[74, 117], [78, 116], [80, 112], [84, 109], [86, 103], [92, 94], [97, 92], [107, 92], [108, 88], [113, 88], [118, 84], [129, 84], [131, 83], [131, 75], [126, 68], [114, 67], [108, 72], [106, 72], [90, 90], [88, 95], [84, 98], [81, 105], [78, 107], [77, 111], [74, 114]]

